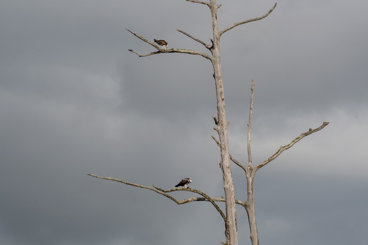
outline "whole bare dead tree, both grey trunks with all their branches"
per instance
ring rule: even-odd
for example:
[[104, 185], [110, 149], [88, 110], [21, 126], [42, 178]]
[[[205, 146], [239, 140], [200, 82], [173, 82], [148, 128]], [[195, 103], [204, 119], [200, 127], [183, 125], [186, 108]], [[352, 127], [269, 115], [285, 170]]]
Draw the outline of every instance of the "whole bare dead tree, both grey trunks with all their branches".
[[[285, 145], [283, 147], [280, 147], [280, 149], [272, 155], [270, 158], [266, 159], [262, 163], [252, 166], [252, 158], [251, 158], [251, 151], [250, 151], [250, 135], [251, 135], [251, 125], [252, 125], [252, 109], [253, 109], [253, 94], [254, 94], [254, 85], [252, 81], [252, 93], [251, 93], [251, 107], [250, 107], [250, 116], [249, 116], [249, 124], [248, 124], [248, 165], [244, 166], [240, 162], [238, 162], [236, 159], [234, 159], [229, 152], [229, 140], [228, 140], [228, 134], [227, 134], [227, 126], [229, 122], [226, 120], [226, 112], [225, 112], [225, 99], [224, 99], [224, 90], [223, 90], [223, 81], [222, 81], [222, 73], [221, 73], [221, 63], [220, 63], [220, 37], [228, 30], [233, 29], [234, 27], [245, 24], [251, 21], [258, 21], [260, 19], [263, 19], [267, 17], [276, 7], [275, 5], [263, 16], [254, 18], [254, 19], [248, 19], [245, 21], [237, 22], [231, 26], [229, 26], [226, 29], [219, 30], [217, 25], [217, 10], [220, 8], [221, 5], [216, 4], [216, 0], [210, 0], [209, 2], [200, 1], [200, 0], [187, 0], [192, 3], [200, 3], [205, 4], [210, 8], [211, 16], [212, 16], [212, 27], [213, 27], [213, 39], [211, 40], [211, 44], [206, 44], [205, 42], [202, 42], [201, 40], [189, 35], [188, 33], [183, 32], [182, 30], [178, 30], [179, 32], [183, 33], [184, 35], [190, 37], [191, 39], [201, 43], [205, 48], [207, 48], [211, 55], [200, 52], [200, 51], [194, 51], [194, 50], [186, 50], [186, 49], [161, 49], [160, 47], [156, 46], [155, 43], [151, 42], [148, 39], [145, 39], [142, 36], [137, 35], [136, 33], [132, 32], [131, 30], [128, 30], [133, 35], [138, 37], [139, 39], [143, 40], [144, 42], [151, 44], [153, 47], [155, 47], [158, 51], [152, 52], [149, 54], [141, 55], [137, 53], [134, 50], [129, 50], [135, 54], [137, 54], [139, 57], [146, 57], [153, 54], [162, 54], [162, 53], [185, 53], [185, 54], [194, 54], [194, 55], [201, 55], [202, 57], [208, 59], [212, 65], [213, 65], [213, 77], [215, 79], [216, 84], [216, 96], [217, 96], [217, 117], [213, 117], [215, 120], [216, 127], [214, 129], [217, 131], [217, 134], [219, 136], [219, 141], [216, 139], [215, 136], [212, 136], [212, 138], [216, 141], [217, 145], [220, 147], [220, 155], [221, 155], [221, 161], [220, 161], [220, 167], [222, 169], [222, 175], [223, 175], [223, 181], [224, 181], [224, 192], [225, 192], [225, 198], [211, 198], [208, 195], [206, 195], [204, 192], [195, 190], [192, 188], [177, 188], [177, 189], [171, 189], [171, 190], [163, 190], [159, 187], [148, 187], [144, 185], [138, 185], [129, 183], [126, 181], [114, 179], [111, 177], [99, 177], [94, 174], [88, 174], [93, 177], [97, 177], [100, 179], [108, 179], [108, 180], [114, 180], [118, 181], [124, 184], [133, 185], [136, 187], [146, 188], [152, 191], [155, 191], [161, 195], [164, 195], [167, 198], [170, 198], [177, 204], [183, 204], [188, 203], [192, 201], [208, 201], [212, 203], [212, 205], [216, 208], [217, 212], [220, 213], [224, 220], [225, 224], [225, 237], [226, 242], [221, 242], [222, 244], [227, 245], [238, 245], [238, 231], [237, 231], [237, 220], [236, 220], [236, 204], [243, 206], [248, 213], [249, 218], [249, 224], [250, 224], [250, 230], [251, 230], [251, 241], [252, 245], [258, 245], [258, 233], [257, 233], [257, 227], [256, 227], [256, 221], [255, 221], [255, 212], [254, 212], [254, 200], [253, 200], [253, 178], [255, 172], [275, 159], [277, 156], [281, 154], [284, 150], [290, 148], [293, 146], [297, 141], [299, 141], [304, 136], [307, 136], [311, 133], [314, 133], [315, 131], [321, 130], [323, 127], [328, 125], [328, 122], [323, 122], [322, 126], [316, 128], [316, 129], [309, 129], [309, 131], [302, 133], [300, 136], [298, 136], [296, 139], [291, 141], [290, 144]], [[231, 166], [230, 161], [233, 161], [238, 166], [240, 166], [242, 169], [244, 169], [246, 177], [247, 177], [247, 191], [248, 191], [248, 200], [247, 201], [239, 201], [235, 199], [234, 194], [234, 183], [233, 183], [233, 177], [231, 173]], [[167, 194], [169, 192], [173, 191], [191, 191], [194, 193], [198, 193], [202, 197], [192, 197], [188, 199], [184, 199], [182, 201], [178, 201], [177, 199], [173, 198], [171, 195]], [[225, 202], [226, 203], [226, 213], [224, 214], [222, 210], [219, 208], [219, 206], [216, 204], [216, 202]]]

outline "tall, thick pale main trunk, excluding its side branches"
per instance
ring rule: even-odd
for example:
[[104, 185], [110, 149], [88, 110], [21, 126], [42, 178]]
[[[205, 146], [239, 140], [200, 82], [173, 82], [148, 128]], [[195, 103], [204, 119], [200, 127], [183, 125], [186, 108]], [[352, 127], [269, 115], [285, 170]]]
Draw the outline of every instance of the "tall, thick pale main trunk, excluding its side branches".
[[217, 133], [220, 138], [221, 149], [221, 169], [224, 179], [224, 191], [226, 199], [226, 224], [225, 235], [226, 243], [228, 245], [238, 245], [238, 228], [236, 221], [236, 207], [235, 207], [235, 192], [234, 182], [231, 173], [230, 165], [230, 153], [229, 153], [229, 139], [227, 135], [227, 125], [225, 112], [225, 98], [224, 88], [222, 82], [221, 73], [221, 61], [220, 61], [220, 33], [217, 25], [217, 9], [219, 6], [216, 4], [216, 0], [210, 1], [210, 9], [212, 13], [212, 26], [213, 26], [213, 48], [211, 49], [213, 57], [213, 70], [216, 83], [216, 96], [217, 96], [217, 116], [218, 125]]

